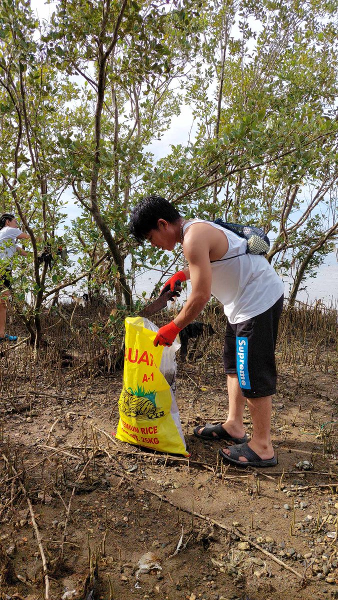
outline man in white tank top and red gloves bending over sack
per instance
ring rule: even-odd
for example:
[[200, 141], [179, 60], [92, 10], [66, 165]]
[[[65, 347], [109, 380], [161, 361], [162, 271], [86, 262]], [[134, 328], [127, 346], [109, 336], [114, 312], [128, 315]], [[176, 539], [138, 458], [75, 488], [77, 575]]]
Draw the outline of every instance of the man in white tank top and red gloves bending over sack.
[[[148, 196], [135, 206], [130, 233], [142, 243], [172, 251], [182, 244], [187, 268], [172, 275], [163, 290], [190, 279], [192, 292], [171, 323], [158, 329], [154, 345], [171, 346], [177, 334], [201, 313], [211, 294], [222, 302], [228, 323], [223, 361], [229, 415], [217, 425], [199, 425], [196, 437], [224, 440], [223, 459], [239, 466], [277, 464], [271, 443], [272, 395], [276, 392], [275, 347], [283, 308], [283, 282], [264, 256], [247, 253], [247, 241], [219, 224], [184, 220], [174, 205]], [[243, 415], [247, 402], [253, 436], [247, 442]]]

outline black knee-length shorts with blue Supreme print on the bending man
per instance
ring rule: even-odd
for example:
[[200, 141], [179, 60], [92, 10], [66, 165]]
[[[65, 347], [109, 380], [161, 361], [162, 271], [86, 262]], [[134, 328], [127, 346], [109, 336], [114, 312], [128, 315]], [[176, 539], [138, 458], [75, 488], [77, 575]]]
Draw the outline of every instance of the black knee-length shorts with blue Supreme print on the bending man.
[[265, 313], [231, 325], [225, 332], [223, 360], [225, 372], [237, 374], [246, 398], [276, 394], [277, 370], [274, 350], [284, 296]]

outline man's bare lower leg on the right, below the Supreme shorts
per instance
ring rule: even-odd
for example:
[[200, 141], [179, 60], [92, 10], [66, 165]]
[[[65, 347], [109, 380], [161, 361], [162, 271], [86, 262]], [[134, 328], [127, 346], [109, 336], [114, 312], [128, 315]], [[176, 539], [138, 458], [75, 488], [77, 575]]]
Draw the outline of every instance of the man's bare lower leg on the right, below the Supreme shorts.
[[[238, 385], [239, 387], [239, 385]], [[248, 446], [263, 460], [273, 458], [274, 449], [271, 443], [271, 404], [272, 396], [263, 398], [247, 398], [253, 425], [253, 435]], [[226, 427], [229, 431], [229, 427]], [[223, 448], [225, 454], [230, 454], [229, 448]], [[238, 460], [247, 461], [245, 457]]]

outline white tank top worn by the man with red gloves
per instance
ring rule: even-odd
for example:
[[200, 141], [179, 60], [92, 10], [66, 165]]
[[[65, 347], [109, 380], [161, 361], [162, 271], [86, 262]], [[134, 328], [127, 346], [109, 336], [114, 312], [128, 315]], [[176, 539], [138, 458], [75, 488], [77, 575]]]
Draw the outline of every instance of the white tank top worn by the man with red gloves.
[[267, 259], [259, 254], [244, 254], [246, 239], [211, 221], [188, 221], [183, 234], [195, 223], [216, 227], [228, 239], [229, 249], [222, 259], [229, 260], [211, 262], [211, 293], [223, 304], [229, 322], [241, 323], [273, 306], [282, 296], [284, 284]]

